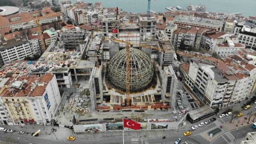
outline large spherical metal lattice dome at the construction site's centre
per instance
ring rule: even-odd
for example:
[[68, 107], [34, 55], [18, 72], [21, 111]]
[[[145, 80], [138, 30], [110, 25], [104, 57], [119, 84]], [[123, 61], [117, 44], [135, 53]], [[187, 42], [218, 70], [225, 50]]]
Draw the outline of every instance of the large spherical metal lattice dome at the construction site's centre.
[[[153, 64], [146, 53], [130, 48], [130, 92], [142, 91], [153, 78]], [[126, 91], [125, 49], [117, 52], [108, 65], [108, 77], [113, 85]]]

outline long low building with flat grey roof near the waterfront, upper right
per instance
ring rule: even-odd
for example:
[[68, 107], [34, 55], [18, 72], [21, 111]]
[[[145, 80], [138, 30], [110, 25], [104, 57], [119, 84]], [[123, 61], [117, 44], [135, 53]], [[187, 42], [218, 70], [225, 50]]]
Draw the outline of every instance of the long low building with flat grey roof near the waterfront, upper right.
[[192, 16], [178, 15], [173, 19], [173, 23], [178, 25], [178, 28], [184, 26], [191, 26], [197, 28], [209, 28], [216, 31], [222, 31], [223, 22], [220, 20], [212, 20], [205, 18], [198, 18]]

